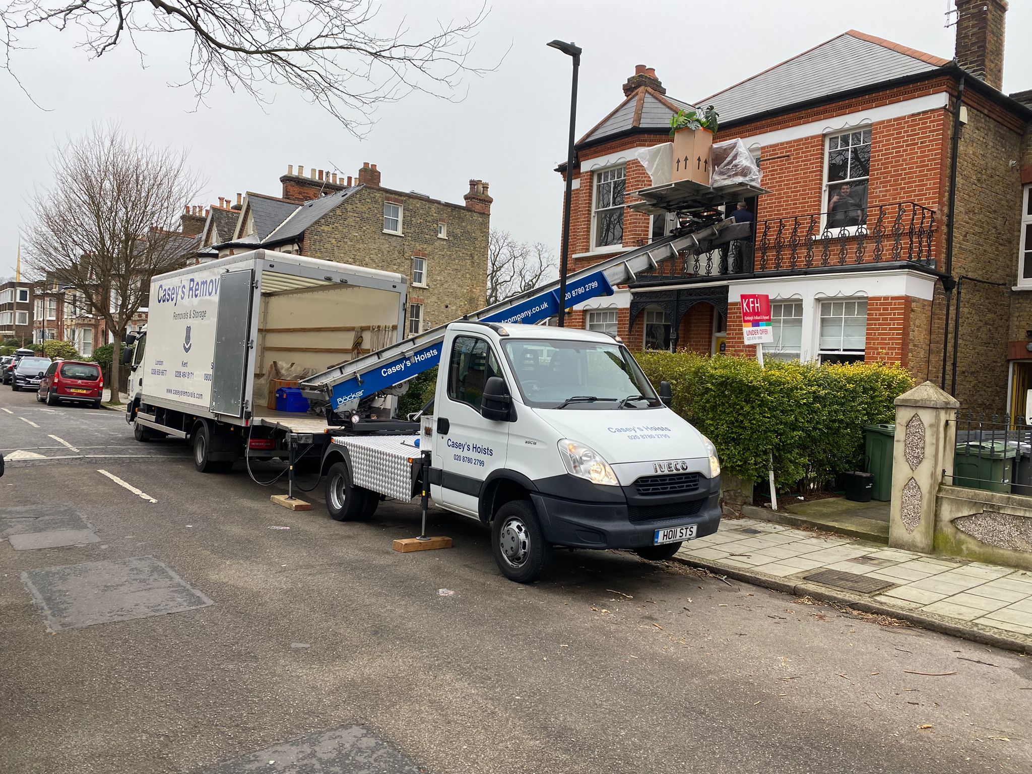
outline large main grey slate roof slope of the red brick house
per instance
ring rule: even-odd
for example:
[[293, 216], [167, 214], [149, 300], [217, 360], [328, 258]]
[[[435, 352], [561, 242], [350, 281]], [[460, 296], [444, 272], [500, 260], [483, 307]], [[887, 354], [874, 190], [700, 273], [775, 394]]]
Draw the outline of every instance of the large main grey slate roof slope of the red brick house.
[[949, 60], [849, 30], [721, 92], [699, 100], [715, 105], [720, 123], [840, 92], [932, 72]]

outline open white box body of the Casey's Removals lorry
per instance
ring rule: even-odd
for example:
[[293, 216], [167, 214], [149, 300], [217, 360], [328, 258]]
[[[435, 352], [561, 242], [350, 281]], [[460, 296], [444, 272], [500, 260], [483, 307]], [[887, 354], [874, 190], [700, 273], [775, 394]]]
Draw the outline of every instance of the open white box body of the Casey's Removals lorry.
[[[323, 370], [394, 344], [401, 275], [256, 250], [155, 277], [141, 402], [236, 425], [322, 431], [323, 417], [270, 411], [272, 361]], [[303, 429], [301, 429], [303, 426]]]

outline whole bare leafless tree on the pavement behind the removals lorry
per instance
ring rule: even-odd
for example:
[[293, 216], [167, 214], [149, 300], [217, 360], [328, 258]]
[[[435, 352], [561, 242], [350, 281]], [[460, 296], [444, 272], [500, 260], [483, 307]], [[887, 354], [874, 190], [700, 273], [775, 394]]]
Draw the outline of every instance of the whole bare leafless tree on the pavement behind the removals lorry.
[[[184, 205], [201, 187], [186, 154], [94, 127], [57, 149], [55, 185], [32, 198], [24, 230], [27, 263], [83, 294], [116, 341], [146, 305], [151, 278], [174, 268], [191, 239], [180, 232]], [[118, 357], [111, 400], [118, 402]]]

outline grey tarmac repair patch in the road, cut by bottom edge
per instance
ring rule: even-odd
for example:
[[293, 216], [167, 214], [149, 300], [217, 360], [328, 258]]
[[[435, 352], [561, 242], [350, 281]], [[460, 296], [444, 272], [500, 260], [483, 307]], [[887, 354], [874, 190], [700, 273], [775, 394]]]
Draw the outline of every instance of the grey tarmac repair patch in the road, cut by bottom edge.
[[266, 747], [197, 774], [421, 774], [426, 769], [376, 732], [343, 725]]

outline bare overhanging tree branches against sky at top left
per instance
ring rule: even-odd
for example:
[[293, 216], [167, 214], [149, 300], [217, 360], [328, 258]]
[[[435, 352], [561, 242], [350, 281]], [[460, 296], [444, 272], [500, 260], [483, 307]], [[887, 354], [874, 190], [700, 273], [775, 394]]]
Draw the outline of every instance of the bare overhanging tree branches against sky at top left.
[[[267, 102], [262, 85], [289, 86], [352, 134], [373, 123], [375, 106], [412, 92], [451, 99], [462, 77], [493, 69], [469, 63], [486, 5], [465, 19], [412, 32], [402, 18], [389, 28], [375, 0], [5, 0], [0, 67], [15, 80], [12, 53], [33, 28], [69, 26], [79, 47], [100, 57], [123, 43], [140, 51], [141, 33], [191, 40], [189, 77], [198, 103], [217, 83]], [[21, 82], [19, 82], [21, 86]], [[24, 89], [23, 89], [24, 91]], [[31, 97], [30, 97], [31, 98]]]

